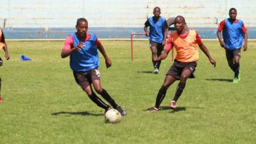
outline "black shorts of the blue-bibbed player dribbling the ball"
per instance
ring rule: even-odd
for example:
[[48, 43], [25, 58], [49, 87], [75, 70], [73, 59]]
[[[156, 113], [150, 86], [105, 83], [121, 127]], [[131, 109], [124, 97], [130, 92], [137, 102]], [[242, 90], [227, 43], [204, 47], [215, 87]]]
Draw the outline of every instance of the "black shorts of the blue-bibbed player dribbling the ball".
[[73, 71], [75, 81], [83, 90], [89, 86], [94, 80], [100, 80], [100, 71], [91, 69], [90, 71]]

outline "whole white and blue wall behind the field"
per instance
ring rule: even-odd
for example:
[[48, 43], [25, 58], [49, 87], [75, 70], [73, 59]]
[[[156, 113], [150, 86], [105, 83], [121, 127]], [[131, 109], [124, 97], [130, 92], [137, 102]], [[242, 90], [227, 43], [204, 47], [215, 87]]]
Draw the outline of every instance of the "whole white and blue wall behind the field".
[[0, 26], [7, 39], [64, 39], [74, 31], [77, 18], [87, 18], [89, 30], [100, 38], [129, 38], [143, 32], [144, 22], [154, 7], [165, 18], [182, 15], [188, 26], [215, 39], [216, 29], [228, 10], [235, 7], [237, 18], [256, 39], [256, 1], [240, 0], [0, 0]]

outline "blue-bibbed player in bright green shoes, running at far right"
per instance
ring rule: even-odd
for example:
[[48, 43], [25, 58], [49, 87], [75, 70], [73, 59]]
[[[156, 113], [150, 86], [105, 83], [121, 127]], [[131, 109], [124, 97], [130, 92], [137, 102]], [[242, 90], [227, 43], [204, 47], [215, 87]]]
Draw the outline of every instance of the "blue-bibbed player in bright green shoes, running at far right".
[[[226, 60], [229, 67], [234, 71], [234, 83], [241, 81], [240, 56], [244, 41], [244, 51], [247, 50], [247, 29], [242, 20], [236, 19], [237, 11], [231, 8], [228, 12], [229, 18], [221, 22], [218, 28], [217, 36], [221, 47], [226, 50]], [[223, 40], [221, 39], [223, 31]]]

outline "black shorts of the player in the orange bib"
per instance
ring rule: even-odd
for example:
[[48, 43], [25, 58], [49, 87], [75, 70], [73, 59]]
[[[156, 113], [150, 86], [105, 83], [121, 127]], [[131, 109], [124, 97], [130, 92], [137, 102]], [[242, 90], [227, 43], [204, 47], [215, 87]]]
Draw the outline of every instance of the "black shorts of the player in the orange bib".
[[188, 63], [183, 63], [183, 62], [179, 62], [177, 60], [174, 60], [173, 65], [171, 65], [169, 71], [166, 73], [166, 75], [171, 75], [173, 77], [175, 77], [176, 79], [181, 79], [181, 73], [183, 71], [183, 69], [190, 69], [191, 71], [191, 75], [190, 75], [190, 79], [195, 78], [194, 76], [194, 71], [196, 71], [196, 62], [188, 62]]

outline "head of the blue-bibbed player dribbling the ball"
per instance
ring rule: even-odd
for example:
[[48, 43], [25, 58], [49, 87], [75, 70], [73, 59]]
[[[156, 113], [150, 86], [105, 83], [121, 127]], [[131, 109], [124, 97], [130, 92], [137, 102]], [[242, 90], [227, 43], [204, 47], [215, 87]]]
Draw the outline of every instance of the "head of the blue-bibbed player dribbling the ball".
[[87, 34], [88, 30], [88, 22], [85, 18], [79, 18], [77, 19], [75, 28], [77, 29], [77, 34], [79, 37], [83, 38]]

